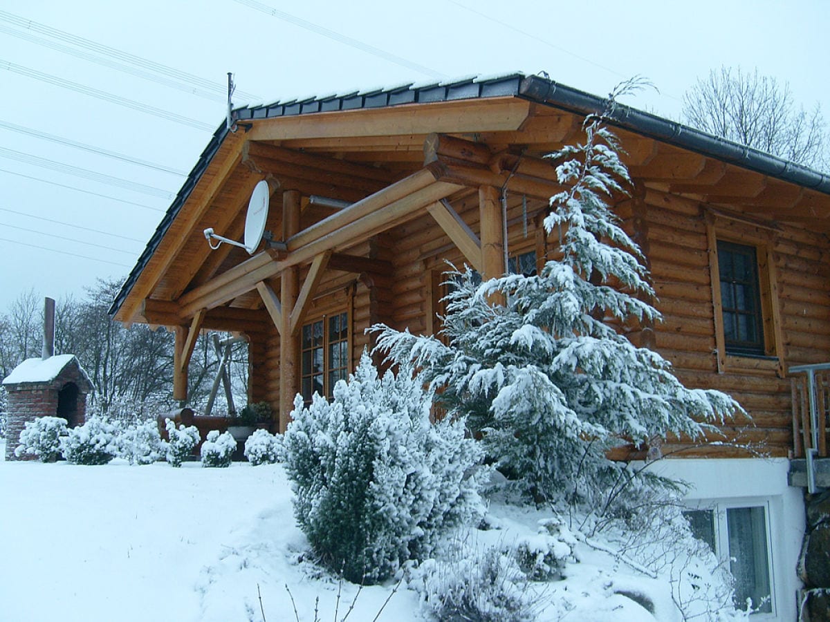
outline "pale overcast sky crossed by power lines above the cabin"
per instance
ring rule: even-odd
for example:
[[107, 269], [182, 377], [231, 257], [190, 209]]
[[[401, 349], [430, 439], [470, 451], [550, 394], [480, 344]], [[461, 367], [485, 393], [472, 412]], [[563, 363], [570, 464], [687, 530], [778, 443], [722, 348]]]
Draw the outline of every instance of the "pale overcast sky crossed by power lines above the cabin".
[[826, 0], [0, 0], [0, 313], [123, 281], [223, 122], [227, 71], [235, 104], [513, 70], [605, 95], [643, 75], [659, 94], [625, 103], [679, 119], [699, 76], [757, 67], [828, 116], [828, 32]]

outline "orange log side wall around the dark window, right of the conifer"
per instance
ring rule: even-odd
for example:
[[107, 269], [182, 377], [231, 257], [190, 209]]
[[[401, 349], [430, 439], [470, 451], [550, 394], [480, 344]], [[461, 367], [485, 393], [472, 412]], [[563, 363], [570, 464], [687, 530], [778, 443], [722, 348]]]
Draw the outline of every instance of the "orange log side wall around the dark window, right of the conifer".
[[[751, 416], [751, 421], [743, 417], [727, 421], [721, 428], [723, 436], [711, 440], [752, 445], [762, 453], [786, 456], [793, 447], [789, 378], [779, 377], [769, 366], [759, 368], [751, 358], [730, 357], [730, 367], [718, 371], [706, 206], [655, 191], [646, 193], [645, 202], [652, 281], [659, 299], [657, 309], [663, 314], [662, 323], [654, 327], [657, 350], [672, 362], [686, 386], [725, 391]], [[630, 219], [632, 214], [621, 216]], [[826, 362], [830, 360], [828, 240], [785, 224], [762, 221], [761, 226], [777, 230], [771, 239], [785, 366]], [[749, 455], [729, 445], [696, 448], [676, 443], [664, 449], [682, 456]]]

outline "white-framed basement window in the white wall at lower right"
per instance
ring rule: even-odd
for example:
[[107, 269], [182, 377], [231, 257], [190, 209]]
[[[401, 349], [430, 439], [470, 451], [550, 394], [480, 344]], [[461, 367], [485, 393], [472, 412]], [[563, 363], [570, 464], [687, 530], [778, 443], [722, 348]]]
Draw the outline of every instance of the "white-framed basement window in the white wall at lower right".
[[758, 613], [773, 613], [766, 506], [719, 503], [684, 514], [695, 537], [706, 542], [721, 561], [729, 561], [735, 577], [735, 605], [744, 608], [749, 598]]

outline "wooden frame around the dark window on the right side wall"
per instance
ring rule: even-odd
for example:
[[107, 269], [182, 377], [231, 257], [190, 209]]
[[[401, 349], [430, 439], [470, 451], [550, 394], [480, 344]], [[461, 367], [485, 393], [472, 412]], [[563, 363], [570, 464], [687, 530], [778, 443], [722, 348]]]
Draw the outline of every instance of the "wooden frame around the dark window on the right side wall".
[[[715, 357], [719, 373], [737, 370], [775, 372], [779, 377], [784, 377], [784, 337], [781, 328], [778, 271], [773, 254], [775, 232], [776, 230], [769, 226], [712, 210], [706, 211], [706, 238], [715, 322]], [[763, 353], [738, 352], [726, 345], [720, 289], [719, 242], [754, 247]]]

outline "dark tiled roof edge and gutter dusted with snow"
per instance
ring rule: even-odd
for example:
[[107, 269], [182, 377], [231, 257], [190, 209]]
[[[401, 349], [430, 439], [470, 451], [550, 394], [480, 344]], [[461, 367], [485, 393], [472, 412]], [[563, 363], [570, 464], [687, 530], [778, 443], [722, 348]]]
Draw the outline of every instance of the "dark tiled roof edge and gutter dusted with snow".
[[[275, 101], [268, 104], [249, 104], [233, 111], [233, 119], [244, 127], [246, 121], [272, 119], [300, 114], [345, 111], [353, 109], [388, 108], [401, 104], [429, 104], [453, 100], [486, 99], [513, 96], [548, 105], [576, 114], [593, 114], [605, 109], [607, 100], [582, 90], [562, 85], [539, 75], [513, 73], [508, 75], [465, 77], [458, 80], [408, 83], [388, 88], [352, 91], [342, 95], [310, 96], [300, 100]], [[699, 129], [663, 119], [625, 105], [618, 105], [609, 115], [609, 124], [628, 129], [647, 138], [688, 149], [706, 157], [735, 164], [756, 173], [791, 182], [830, 195], [830, 175], [789, 162], [769, 153], [734, 143], [725, 138], [707, 134]], [[187, 201], [193, 188], [211, 163], [213, 156], [229, 133], [222, 122], [196, 166], [189, 174], [173, 203], [139, 256], [133, 270], [116, 295], [109, 313], [113, 315], [124, 303], [130, 289], [147, 265], [149, 258], [168, 231], [178, 211]]]

